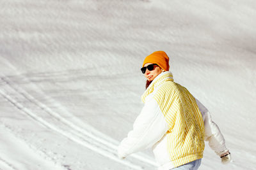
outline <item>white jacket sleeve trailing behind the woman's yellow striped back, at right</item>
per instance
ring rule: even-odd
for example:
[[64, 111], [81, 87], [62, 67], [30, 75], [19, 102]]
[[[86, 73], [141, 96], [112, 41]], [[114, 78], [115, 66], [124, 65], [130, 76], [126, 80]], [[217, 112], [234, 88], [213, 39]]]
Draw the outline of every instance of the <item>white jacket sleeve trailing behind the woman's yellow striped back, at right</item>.
[[227, 152], [225, 146], [225, 139], [220, 132], [218, 125], [216, 125], [211, 118], [211, 115], [207, 108], [196, 99], [198, 108], [202, 114], [205, 127], [205, 141], [209, 141], [209, 146], [217, 155], [221, 155]]

